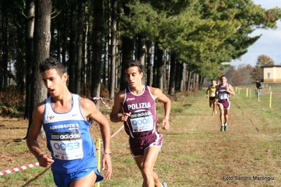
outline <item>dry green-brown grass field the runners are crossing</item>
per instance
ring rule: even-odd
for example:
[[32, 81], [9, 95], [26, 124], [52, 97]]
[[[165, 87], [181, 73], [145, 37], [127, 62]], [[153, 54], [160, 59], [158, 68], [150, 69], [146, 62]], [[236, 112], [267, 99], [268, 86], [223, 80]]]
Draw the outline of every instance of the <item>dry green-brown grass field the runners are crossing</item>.
[[[270, 106], [270, 91], [272, 103]], [[168, 186], [281, 186], [281, 88], [263, 89], [261, 100], [246, 97], [242, 87], [231, 96], [227, 132], [220, 131], [219, 114], [211, 115], [206, 89], [173, 96], [170, 129], [163, 131], [163, 150], [155, 171]], [[157, 103], [158, 118], [163, 117]], [[101, 107], [108, 117], [109, 109]], [[122, 126], [111, 123], [112, 134]], [[27, 121], [0, 119], [0, 171], [37, 162], [25, 141]], [[93, 138], [100, 138], [92, 126]], [[46, 143], [40, 139], [46, 152]], [[142, 186], [142, 176], [130, 156], [122, 130], [111, 139], [113, 176], [100, 186]], [[101, 172], [103, 173], [103, 172]], [[0, 176], [0, 186], [54, 186], [49, 168], [32, 167]]]

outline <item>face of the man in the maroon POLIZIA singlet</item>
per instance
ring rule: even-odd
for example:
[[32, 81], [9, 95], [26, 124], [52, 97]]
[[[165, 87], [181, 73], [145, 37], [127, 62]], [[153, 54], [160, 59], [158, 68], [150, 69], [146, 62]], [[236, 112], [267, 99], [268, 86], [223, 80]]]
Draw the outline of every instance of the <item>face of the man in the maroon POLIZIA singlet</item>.
[[127, 83], [131, 88], [142, 85], [143, 72], [139, 72], [139, 67], [134, 66], [125, 70]]

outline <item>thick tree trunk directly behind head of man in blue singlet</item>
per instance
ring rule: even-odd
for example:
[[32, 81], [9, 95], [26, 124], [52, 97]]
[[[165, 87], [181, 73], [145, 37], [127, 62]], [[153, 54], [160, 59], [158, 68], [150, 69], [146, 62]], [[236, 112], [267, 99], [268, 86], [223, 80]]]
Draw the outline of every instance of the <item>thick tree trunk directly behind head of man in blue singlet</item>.
[[[51, 42], [51, 0], [35, 1], [35, 46], [34, 46], [34, 63], [32, 65], [32, 98], [30, 99], [30, 124], [32, 124], [32, 111], [38, 103], [44, 101], [47, 96], [46, 87], [42, 83], [40, 76], [39, 64], [49, 57]], [[27, 129], [27, 132], [28, 132]], [[41, 131], [40, 136], [45, 136]]]

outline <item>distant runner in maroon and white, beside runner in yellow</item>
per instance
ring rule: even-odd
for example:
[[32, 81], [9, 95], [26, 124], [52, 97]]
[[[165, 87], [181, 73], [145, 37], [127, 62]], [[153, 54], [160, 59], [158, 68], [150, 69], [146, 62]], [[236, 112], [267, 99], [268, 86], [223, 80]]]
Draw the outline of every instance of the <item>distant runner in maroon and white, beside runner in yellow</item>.
[[220, 77], [220, 84], [216, 86], [216, 101], [220, 109], [220, 131], [227, 130], [228, 114], [230, 112], [230, 94], [235, 96], [235, 91], [227, 84], [225, 75]]

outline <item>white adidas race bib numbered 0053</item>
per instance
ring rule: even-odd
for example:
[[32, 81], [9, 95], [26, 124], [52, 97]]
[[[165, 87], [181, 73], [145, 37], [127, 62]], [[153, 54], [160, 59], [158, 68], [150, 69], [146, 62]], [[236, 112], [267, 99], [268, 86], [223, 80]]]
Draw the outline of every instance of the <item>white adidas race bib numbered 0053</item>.
[[83, 157], [80, 131], [52, 132], [49, 136], [56, 159], [75, 160]]

